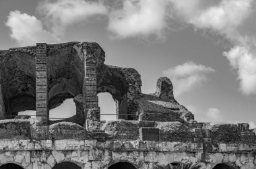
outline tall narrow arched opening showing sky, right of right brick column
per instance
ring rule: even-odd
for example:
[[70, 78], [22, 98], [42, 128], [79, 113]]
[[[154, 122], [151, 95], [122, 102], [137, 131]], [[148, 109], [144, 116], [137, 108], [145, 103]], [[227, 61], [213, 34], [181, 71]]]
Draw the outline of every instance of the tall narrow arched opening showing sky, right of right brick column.
[[[109, 93], [98, 94], [98, 106], [100, 107], [100, 120], [116, 120], [116, 103]], [[106, 115], [104, 115], [106, 114]]]

